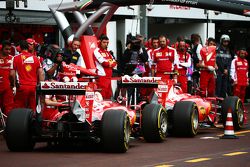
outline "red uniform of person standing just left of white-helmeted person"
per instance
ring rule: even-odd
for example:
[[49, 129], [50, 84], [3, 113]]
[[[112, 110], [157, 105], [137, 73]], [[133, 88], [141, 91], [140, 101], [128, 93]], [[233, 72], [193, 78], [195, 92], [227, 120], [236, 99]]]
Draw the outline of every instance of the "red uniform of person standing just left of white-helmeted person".
[[200, 51], [201, 59], [205, 65], [205, 68], [201, 69], [200, 73], [200, 89], [202, 91], [202, 96], [213, 97], [215, 93], [215, 78], [214, 70], [209, 70], [206, 67], [211, 67], [215, 69], [216, 63], [216, 46], [206, 46]]

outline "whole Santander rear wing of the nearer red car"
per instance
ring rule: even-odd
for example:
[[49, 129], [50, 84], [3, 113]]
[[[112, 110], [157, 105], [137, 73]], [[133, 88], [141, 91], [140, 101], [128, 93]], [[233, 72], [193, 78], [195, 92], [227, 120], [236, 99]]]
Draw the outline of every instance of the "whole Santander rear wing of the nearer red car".
[[85, 95], [88, 82], [41, 82], [37, 95]]

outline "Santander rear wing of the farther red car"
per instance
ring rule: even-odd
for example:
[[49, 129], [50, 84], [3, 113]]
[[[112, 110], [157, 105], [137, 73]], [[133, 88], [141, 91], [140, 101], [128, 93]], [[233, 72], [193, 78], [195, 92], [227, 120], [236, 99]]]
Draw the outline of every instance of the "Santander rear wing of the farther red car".
[[121, 77], [119, 85], [123, 88], [158, 88], [161, 77], [139, 77], [128, 76]]

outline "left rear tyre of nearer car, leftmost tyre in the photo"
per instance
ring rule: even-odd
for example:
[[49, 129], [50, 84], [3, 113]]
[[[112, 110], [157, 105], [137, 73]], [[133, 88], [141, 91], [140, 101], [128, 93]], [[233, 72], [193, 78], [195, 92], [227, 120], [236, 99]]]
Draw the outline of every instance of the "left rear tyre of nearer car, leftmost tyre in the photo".
[[31, 151], [32, 141], [32, 110], [25, 108], [13, 109], [6, 122], [6, 143], [10, 151]]

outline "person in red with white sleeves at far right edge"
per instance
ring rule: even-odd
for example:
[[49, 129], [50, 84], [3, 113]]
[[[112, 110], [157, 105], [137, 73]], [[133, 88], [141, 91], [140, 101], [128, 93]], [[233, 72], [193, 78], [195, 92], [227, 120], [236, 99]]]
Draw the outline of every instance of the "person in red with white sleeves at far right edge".
[[237, 51], [237, 57], [232, 61], [230, 71], [230, 76], [234, 85], [233, 93], [235, 96], [238, 96], [243, 103], [246, 87], [249, 85], [247, 55], [248, 53], [245, 48], [239, 49]]

